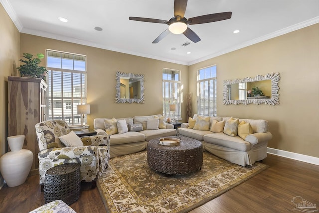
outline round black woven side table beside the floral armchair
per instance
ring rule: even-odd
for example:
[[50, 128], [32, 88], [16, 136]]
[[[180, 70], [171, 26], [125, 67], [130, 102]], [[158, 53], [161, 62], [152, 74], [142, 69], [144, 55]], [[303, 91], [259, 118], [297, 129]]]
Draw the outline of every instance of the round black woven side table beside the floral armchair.
[[45, 173], [44, 201], [62, 200], [70, 205], [80, 197], [80, 164], [61, 164]]

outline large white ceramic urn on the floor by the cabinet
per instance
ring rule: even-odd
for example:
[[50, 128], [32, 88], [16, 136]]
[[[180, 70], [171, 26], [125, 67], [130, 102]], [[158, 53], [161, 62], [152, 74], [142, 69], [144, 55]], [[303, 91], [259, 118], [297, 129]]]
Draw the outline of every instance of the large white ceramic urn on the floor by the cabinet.
[[0, 171], [9, 187], [15, 187], [25, 182], [30, 172], [33, 153], [22, 149], [24, 135], [8, 137], [11, 152], [7, 152], [0, 158]]

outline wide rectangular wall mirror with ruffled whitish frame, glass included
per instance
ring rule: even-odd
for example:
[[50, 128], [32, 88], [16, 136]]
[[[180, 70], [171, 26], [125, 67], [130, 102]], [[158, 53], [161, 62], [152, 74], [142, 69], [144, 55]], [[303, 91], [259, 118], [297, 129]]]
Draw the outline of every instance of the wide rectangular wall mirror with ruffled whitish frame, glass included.
[[[224, 80], [223, 104], [279, 104], [279, 80], [279, 73]], [[261, 89], [261, 94], [252, 95], [253, 88]]]

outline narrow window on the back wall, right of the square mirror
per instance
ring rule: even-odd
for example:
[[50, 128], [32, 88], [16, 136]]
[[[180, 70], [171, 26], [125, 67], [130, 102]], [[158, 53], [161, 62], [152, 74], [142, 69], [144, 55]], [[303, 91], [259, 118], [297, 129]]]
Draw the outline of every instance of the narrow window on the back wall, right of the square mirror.
[[[181, 120], [180, 84], [179, 70], [163, 69], [163, 115], [166, 118]], [[175, 105], [175, 111], [170, 111], [169, 105]]]

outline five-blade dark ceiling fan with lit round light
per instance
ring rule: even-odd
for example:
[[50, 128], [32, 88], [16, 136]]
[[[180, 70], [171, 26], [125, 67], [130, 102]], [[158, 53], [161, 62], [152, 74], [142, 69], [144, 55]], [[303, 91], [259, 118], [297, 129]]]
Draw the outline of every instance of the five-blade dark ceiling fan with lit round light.
[[187, 25], [210, 23], [210, 22], [222, 21], [222, 20], [231, 18], [231, 12], [222, 12], [222, 13], [202, 15], [202, 16], [197, 16], [197, 17], [187, 19], [184, 17], [186, 7], [187, 7], [187, 0], [175, 0], [174, 17], [172, 17], [169, 21], [153, 19], [153, 18], [140, 18], [140, 17], [129, 17], [129, 20], [167, 24], [168, 29], [162, 32], [152, 43], [160, 42], [170, 32], [174, 34], [183, 33], [192, 42], [197, 43], [198, 41], [200, 41], [200, 38], [193, 30], [188, 28]]

